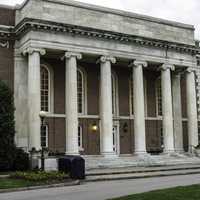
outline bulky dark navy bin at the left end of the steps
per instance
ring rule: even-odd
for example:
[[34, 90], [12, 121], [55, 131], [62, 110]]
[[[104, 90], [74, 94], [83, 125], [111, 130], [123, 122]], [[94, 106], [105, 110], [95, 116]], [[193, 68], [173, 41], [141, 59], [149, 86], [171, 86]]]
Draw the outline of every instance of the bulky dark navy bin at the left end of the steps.
[[64, 156], [59, 159], [59, 171], [69, 173], [72, 179], [85, 179], [85, 160], [81, 156]]

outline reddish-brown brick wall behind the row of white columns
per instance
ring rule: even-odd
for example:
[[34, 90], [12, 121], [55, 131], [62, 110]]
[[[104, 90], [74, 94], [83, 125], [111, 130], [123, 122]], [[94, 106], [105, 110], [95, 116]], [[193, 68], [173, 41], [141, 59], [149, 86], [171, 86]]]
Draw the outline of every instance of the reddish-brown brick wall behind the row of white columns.
[[[54, 69], [54, 109], [55, 113], [65, 113], [65, 66], [64, 62], [60, 60], [45, 60], [51, 64]], [[99, 114], [99, 77], [100, 68], [96, 64], [79, 62], [87, 75], [87, 102], [88, 102], [88, 115]], [[131, 69], [114, 66], [112, 70], [118, 76], [118, 94], [119, 94], [119, 113], [120, 116], [129, 116], [129, 79], [131, 76]], [[159, 72], [145, 70], [144, 76], [146, 77], [147, 85], [147, 113], [148, 117], [156, 118], [156, 96], [155, 96], [155, 80], [160, 75]], [[186, 112], [185, 104], [185, 86], [182, 86], [182, 104], [183, 116]], [[65, 123], [64, 119], [58, 119], [56, 125], [50, 125], [50, 141], [51, 148], [56, 150], [64, 150], [65, 148]], [[62, 121], [62, 122], [61, 122]], [[49, 121], [49, 123], [55, 123]], [[91, 130], [93, 123], [98, 124], [97, 119], [79, 119], [79, 123], [83, 127], [83, 147], [82, 154], [99, 154], [100, 153], [100, 132]], [[128, 131], [124, 131], [124, 124], [127, 123]], [[146, 119], [146, 145], [148, 152], [161, 151], [161, 126], [162, 121], [159, 119]], [[55, 128], [56, 127], [56, 128]], [[187, 147], [187, 125], [183, 123], [184, 129], [184, 146]], [[60, 139], [54, 140], [56, 135]], [[119, 136], [120, 136], [120, 150], [122, 154], [129, 154], [134, 152], [134, 130], [133, 120], [121, 119], [119, 120]], [[60, 141], [60, 144], [59, 144]], [[56, 146], [55, 146], [56, 143]], [[54, 146], [53, 146], [54, 145]]]

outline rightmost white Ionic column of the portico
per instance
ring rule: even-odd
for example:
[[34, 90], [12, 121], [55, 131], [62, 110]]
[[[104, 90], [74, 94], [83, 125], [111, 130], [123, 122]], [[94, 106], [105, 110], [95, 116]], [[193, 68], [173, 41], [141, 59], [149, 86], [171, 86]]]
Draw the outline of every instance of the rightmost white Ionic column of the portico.
[[188, 117], [189, 152], [198, 144], [197, 102], [194, 69], [188, 68], [186, 73], [186, 98]]

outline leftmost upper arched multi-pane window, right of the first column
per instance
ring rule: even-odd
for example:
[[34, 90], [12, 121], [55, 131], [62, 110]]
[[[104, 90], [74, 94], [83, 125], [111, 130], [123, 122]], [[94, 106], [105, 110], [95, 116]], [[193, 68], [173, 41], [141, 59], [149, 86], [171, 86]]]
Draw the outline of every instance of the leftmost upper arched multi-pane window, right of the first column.
[[50, 72], [45, 65], [41, 65], [41, 110], [45, 112], [50, 111]]

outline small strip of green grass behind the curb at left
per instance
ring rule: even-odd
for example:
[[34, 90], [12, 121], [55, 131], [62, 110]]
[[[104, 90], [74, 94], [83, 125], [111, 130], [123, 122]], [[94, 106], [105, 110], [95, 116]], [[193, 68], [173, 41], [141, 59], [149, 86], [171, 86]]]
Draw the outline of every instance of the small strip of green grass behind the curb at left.
[[[22, 180], [22, 179], [11, 179], [11, 178], [1, 178], [0, 179], [0, 189], [9, 189], [9, 188], [20, 188], [20, 187], [29, 187], [41, 185], [40, 182]], [[44, 184], [44, 183], [43, 183]]]

